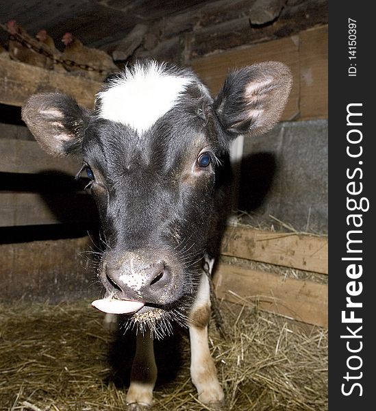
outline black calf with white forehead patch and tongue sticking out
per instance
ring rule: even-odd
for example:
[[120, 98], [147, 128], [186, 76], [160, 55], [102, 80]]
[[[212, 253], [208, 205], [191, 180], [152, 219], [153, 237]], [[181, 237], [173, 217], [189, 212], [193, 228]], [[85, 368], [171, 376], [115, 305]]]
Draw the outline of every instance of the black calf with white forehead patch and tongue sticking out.
[[[186, 323], [199, 401], [221, 406], [208, 347], [212, 267], [228, 208], [229, 145], [278, 121], [291, 87], [278, 62], [227, 75], [213, 99], [189, 69], [139, 62], [108, 79], [90, 112], [64, 94], [30, 97], [23, 120], [51, 155], [82, 158], [106, 250], [98, 275], [103, 312], [138, 330], [128, 410], [151, 406], [153, 338]], [[227, 201], [228, 203], [228, 201]]]

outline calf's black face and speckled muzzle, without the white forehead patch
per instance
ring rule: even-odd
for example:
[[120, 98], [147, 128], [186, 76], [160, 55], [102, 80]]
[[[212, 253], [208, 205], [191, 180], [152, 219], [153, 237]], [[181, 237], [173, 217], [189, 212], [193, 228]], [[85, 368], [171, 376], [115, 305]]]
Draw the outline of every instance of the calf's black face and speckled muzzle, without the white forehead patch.
[[145, 303], [138, 321], [188, 310], [199, 284], [221, 153], [200, 99], [181, 97], [142, 132], [98, 114], [82, 141], [108, 245], [99, 275], [110, 295]]

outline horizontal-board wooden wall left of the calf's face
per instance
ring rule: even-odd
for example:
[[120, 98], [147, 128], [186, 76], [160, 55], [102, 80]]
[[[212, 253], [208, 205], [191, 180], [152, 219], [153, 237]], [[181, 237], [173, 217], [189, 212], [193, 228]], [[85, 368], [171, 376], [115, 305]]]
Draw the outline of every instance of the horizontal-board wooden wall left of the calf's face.
[[[0, 284], [3, 299], [61, 301], [97, 296], [87, 237], [92, 199], [76, 182], [77, 158], [52, 158], [22, 125], [34, 92], [60, 91], [92, 107], [100, 84], [0, 58]], [[12, 107], [13, 106], [13, 107]], [[51, 240], [53, 238], [53, 240]]]

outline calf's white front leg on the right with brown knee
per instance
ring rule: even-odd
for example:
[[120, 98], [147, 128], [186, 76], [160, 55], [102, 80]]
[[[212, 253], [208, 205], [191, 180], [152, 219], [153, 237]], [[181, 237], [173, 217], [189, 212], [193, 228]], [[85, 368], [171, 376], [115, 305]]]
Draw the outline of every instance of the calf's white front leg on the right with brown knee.
[[208, 344], [210, 306], [209, 279], [205, 273], [202, 273], [199, 291], [190, 312], [190, 375], [197, 388], [199, 401], [221, 407], [225, 396], [218, 382], [216, 366]]

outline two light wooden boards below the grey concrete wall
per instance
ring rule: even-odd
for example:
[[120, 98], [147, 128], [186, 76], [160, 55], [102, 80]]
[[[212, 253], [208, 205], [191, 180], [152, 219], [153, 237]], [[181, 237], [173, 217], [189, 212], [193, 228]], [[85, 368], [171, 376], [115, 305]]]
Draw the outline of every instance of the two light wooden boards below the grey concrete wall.
[[[229, 226], [216, 295], [327, 327], [327, 237]], [[231, 259], [229, 259], [231, 257]]]

